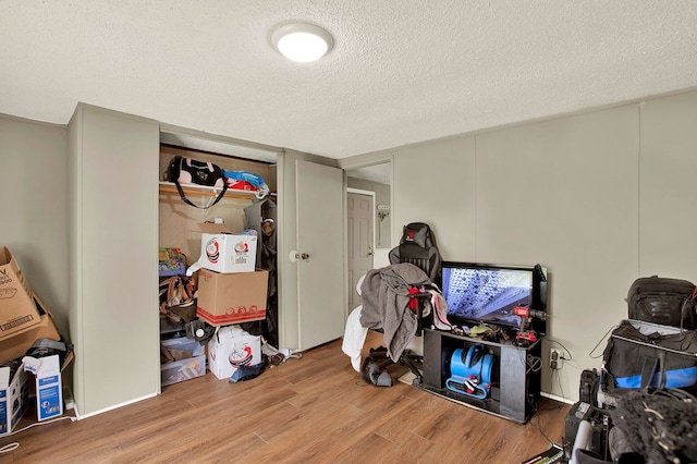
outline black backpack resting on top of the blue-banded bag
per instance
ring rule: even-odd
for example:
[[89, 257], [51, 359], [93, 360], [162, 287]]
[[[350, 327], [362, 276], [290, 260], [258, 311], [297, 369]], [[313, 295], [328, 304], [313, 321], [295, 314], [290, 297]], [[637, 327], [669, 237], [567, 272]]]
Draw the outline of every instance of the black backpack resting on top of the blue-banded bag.
[[628, 318], [695, 329], [695, 284], [651, 276], [635, 280], [627, 293]]

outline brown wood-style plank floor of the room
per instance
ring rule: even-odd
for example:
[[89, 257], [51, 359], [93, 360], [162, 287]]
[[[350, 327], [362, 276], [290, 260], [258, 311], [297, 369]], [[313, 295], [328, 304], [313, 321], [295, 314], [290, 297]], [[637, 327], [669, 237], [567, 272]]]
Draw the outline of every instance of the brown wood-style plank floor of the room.
[[[366, 346], [380, 345], [370, 333]], [[0, 463], [519, 463], [561, 442], [570, 407], [542, 400], [519, 425], [399, 381], [369, 386], [334, 341], [249, 381], [207, 373], [157, 398], [4, 437], [0, 447], [20, 445]]]

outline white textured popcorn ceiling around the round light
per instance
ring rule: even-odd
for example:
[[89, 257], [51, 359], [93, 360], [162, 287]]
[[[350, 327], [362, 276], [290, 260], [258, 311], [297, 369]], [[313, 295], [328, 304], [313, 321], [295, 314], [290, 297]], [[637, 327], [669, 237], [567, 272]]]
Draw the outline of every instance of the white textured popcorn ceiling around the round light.
[[[271, 32], [327, 28], [285, 60]], [[0, 0], [0, 112], [344, 158], [697, 86], [697, 1]]]

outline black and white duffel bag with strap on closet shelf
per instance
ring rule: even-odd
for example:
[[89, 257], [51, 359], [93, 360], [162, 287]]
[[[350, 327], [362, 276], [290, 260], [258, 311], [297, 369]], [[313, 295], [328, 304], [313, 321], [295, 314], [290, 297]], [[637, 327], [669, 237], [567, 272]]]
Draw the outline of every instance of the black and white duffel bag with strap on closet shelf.
[[[228, 180], [225, 179], [224, 171], [219, 166], [213, 164], [212, 162], [184, 158], [179, 155], [172, 158], [172, 161], [170, 161], [169, 169], [167, 170], [167, 178], [170, 182], [173, 182], [174, 185], [176, 185], [179, 196], [182, 197], [182, 200], [184, 203], [200, 209], [208, 209], [220, 202], [220, 199], [228, 191]], [[181, 184], [220, 187], [220, 193], [212, 204], [208, 206], [198, 206], [186, 198]]]

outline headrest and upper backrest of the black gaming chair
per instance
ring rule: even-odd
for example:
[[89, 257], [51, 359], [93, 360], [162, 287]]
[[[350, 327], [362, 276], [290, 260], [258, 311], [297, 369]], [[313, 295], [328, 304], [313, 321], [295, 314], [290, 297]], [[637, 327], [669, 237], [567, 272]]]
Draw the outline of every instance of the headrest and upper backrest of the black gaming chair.
[[439, 284], [440, 253], [431, 234], [431, 228], [424, 222], [404, 225], [400, 244], [388, 255], [390, 264], [409, 262], [423, 269], [431, 282]]

